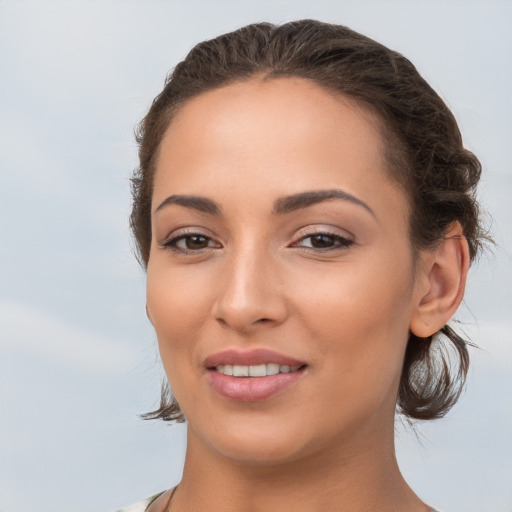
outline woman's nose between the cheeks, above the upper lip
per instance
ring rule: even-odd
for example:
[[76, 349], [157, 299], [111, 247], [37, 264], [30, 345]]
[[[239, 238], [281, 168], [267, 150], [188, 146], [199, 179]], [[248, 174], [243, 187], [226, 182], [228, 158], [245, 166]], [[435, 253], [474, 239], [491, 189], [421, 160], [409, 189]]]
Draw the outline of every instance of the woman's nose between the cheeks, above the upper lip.
[[286, 320], [287, 301], [279, 269], [265, 251], [238, 251], [225, 262], [221, 279], [213, 314], [223, 327], [248, 334]]

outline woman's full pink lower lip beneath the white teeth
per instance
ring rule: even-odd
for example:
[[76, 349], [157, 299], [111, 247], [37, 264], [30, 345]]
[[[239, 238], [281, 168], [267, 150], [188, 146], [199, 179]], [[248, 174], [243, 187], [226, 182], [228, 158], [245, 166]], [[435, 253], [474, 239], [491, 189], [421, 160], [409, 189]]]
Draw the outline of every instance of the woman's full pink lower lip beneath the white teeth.
[[239, 402], [261, 402], [297, 382], [304, 374], [304, 368], [266, 377], [232, 377], [215, 370], [209, 370], [208, 373], [213, 389], [224, 398]]

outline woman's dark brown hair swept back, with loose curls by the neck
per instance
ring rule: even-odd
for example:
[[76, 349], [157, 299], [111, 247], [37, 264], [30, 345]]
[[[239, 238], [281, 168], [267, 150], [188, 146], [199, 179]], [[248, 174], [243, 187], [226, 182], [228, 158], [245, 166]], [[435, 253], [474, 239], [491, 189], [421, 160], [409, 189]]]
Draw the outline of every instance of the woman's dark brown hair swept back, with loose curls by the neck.
[[[199, 43], [167, 77], [137, 132], [140, 167], [132, 177], [130, 221], [143, 266], [151, 245], [155, 159], [174, 113], [203, 92], [255, 76], [306, 78], [376, 112], [389, 143], [390, 173], [410, 200], [413, 247], [434, 247], [458, 221], [474, 260], [487, 238], [475, 200], [481, 166], [464, 149], [448, 107], [399, 53], [349, 28], [302, 20], [280, 26], [248, 25]], [[455, 349], [455, 368], [442, 349], [442, 338]], [[468, 366], [467, 342], [449, 326], [428, 338], [411, 334], [398, 411], [417, 419], [444, 416], [463, 389]], [[167, 384], [160, 407], [144, 417], [183, 421]]]

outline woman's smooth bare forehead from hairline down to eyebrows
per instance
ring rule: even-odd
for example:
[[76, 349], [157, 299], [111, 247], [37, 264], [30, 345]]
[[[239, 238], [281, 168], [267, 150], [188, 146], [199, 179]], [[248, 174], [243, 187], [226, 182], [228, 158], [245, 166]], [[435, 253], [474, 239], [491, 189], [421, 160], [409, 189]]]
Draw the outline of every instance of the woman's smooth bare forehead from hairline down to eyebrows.
[[389, 182], [381, 129], [368, 108], [307, 79], [220, 87], [172, 119], [156, 162], [154, 200], [219, 183], [269, 195], [340, 186], [364, 195], [377, 178]]

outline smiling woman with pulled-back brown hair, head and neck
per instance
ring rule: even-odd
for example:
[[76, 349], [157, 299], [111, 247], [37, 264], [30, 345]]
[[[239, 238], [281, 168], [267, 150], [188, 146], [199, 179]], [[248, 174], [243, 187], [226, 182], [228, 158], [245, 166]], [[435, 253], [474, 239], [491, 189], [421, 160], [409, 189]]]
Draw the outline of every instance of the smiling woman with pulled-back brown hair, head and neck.
[[446, 105], [345, 27], [257, 24], [197, 45], [138, 141], [131, 222], [172, 389], [146, 417], [186, 418], [188, 442], [179, 485], [129, 510], [432, 511], [394, 418], [457, 400], [447, 322], [484, 238]]

